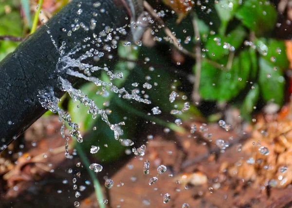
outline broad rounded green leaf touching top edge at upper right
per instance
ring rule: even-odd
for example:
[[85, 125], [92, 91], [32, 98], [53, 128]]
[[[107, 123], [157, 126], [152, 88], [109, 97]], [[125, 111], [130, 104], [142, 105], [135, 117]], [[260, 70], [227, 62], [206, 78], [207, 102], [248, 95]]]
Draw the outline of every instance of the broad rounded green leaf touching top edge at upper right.
[[256, 36], [270, 32], [277, 20], [274, 5], [267, 0], [246, 0], [236, 13], [236, 17]]

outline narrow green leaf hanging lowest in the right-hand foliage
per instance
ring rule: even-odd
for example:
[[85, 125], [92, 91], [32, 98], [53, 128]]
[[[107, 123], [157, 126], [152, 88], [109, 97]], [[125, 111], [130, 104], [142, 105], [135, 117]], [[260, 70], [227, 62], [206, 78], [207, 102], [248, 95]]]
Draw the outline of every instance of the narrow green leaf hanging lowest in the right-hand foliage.
[[259, 86], [254, 84], [254, 88], [250, 89], [247, 93], [243, 104], [240, 108], [240, 115], [241, 117], [246, 120], [251, 120], [251, 113], [254, 111], [254, 106], [256, 106], [259, 97]]

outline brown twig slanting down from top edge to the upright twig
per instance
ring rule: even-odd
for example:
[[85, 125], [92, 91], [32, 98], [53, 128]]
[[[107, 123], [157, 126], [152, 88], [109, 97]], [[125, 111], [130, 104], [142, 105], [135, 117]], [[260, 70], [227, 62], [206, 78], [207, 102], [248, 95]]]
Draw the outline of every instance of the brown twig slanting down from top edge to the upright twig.
[[185, 55], [196, 58], [196, 54], [187, 51], [186, 49], [183, 48], [183, 46], [179, 44], [178, 39], [174, 35], [172, 35], [169, 28], [165, 26], [164, 21], [158, 16], [158, 14], [154, 11], [150, 4], [146, 1], [144, 1], [143, 4], [145, 9], [150, 13], [150, 15], [154, 17], [158, 21], [158, 23], [163, 27], [164, 33], [172, 39], [174, 47], [176, 47], [180, 52], [184, 53]]

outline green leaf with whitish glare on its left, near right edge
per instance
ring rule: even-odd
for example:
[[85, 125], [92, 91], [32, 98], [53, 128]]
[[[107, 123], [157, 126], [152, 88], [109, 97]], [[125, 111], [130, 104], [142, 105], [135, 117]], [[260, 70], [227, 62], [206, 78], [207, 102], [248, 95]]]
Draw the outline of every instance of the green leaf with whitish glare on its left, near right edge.
[[280, 67], [281, 69], [288, 69], [289, 61], [283, 40], [260, 38], [256, 40], [256, 48], [262, 57], [273, 65]]

